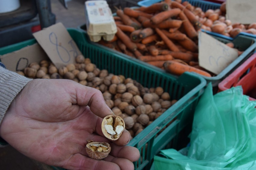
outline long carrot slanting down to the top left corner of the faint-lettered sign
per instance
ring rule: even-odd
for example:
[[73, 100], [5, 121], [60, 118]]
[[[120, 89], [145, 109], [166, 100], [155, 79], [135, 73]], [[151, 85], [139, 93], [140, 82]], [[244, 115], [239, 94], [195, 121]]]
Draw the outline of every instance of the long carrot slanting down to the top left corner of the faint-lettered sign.
[[[178, 8], [179, 9], [179, 8]], [[187, 36], [191, 39], [194, 39], [197, 37], [197, 31], [195, 30], [194, 26], [191, 24], [191, 22], [187, 19], [187, 16], [181, 11], [179, 13], [179, 17], [184, 22], [182, 23], [183, 28], [185, 29]]]

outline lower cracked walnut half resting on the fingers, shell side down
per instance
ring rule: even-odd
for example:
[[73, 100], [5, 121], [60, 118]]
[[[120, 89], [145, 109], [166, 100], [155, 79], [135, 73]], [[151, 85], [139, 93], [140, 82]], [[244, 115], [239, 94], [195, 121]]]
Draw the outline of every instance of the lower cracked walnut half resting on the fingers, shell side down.
[[111, 151], [110, 145], [106, 142], [93, 142], [93, 140], [87, 140], [87, 142], [86, 153], [90, 158], [102, 160]]

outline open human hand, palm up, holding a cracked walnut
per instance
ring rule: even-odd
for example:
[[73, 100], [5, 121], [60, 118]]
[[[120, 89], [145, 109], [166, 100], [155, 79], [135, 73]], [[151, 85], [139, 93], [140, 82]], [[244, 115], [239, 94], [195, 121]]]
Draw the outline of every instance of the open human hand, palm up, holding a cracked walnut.
[[[112, 114], [102, 93], [71, 80], [35, 79], [14, 98], [0, 127], [0, 135], [24, 155], [66, 169], [134, 169], [139, 150], [124, 146], [130, 133], [116, 141], [103, 137], [102, 118]], [[86, 153], [87, 140], [108, 142], [103, 160]]]

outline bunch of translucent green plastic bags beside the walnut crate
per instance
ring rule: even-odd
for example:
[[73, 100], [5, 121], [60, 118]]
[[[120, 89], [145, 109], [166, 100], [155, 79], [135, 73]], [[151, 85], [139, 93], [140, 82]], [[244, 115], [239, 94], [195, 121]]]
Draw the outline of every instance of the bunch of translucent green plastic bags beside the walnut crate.
[[209, 84], [194, 113], [190, 147], [162, 150], [154, 168], [256, 169], [255, 106], [241, 86], [213, 95]]

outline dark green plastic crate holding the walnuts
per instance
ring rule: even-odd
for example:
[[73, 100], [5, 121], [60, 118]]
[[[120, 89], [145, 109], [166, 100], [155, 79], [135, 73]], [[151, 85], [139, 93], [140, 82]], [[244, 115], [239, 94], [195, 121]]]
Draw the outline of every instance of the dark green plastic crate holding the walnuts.
[[[187, 144], [193, 113], [206, 86], [205, 79], [194, 73], [184, 73], [180, 77], [172, 76], [144, 62], [130, 60], [105, 47], [89, 43], [87, 35], [78, 29], [72, 28], [68, 31], [82, 54], [90, 58], [99, 69], [107, 69], [110, 73], [132, 78], [148, 88], [161, 86], [164, 91], [169, 92], [171, 99], [178, 100], [129, 142], [129, 146], [138, 148], [141, 153], [141, 159], [134, 163], [135, 169], [149, 169], [154, 155], [163, 148], [180, 149]], [[32, 39], [0, 48], [0, 55], [35, 42], [36, 40]]]

